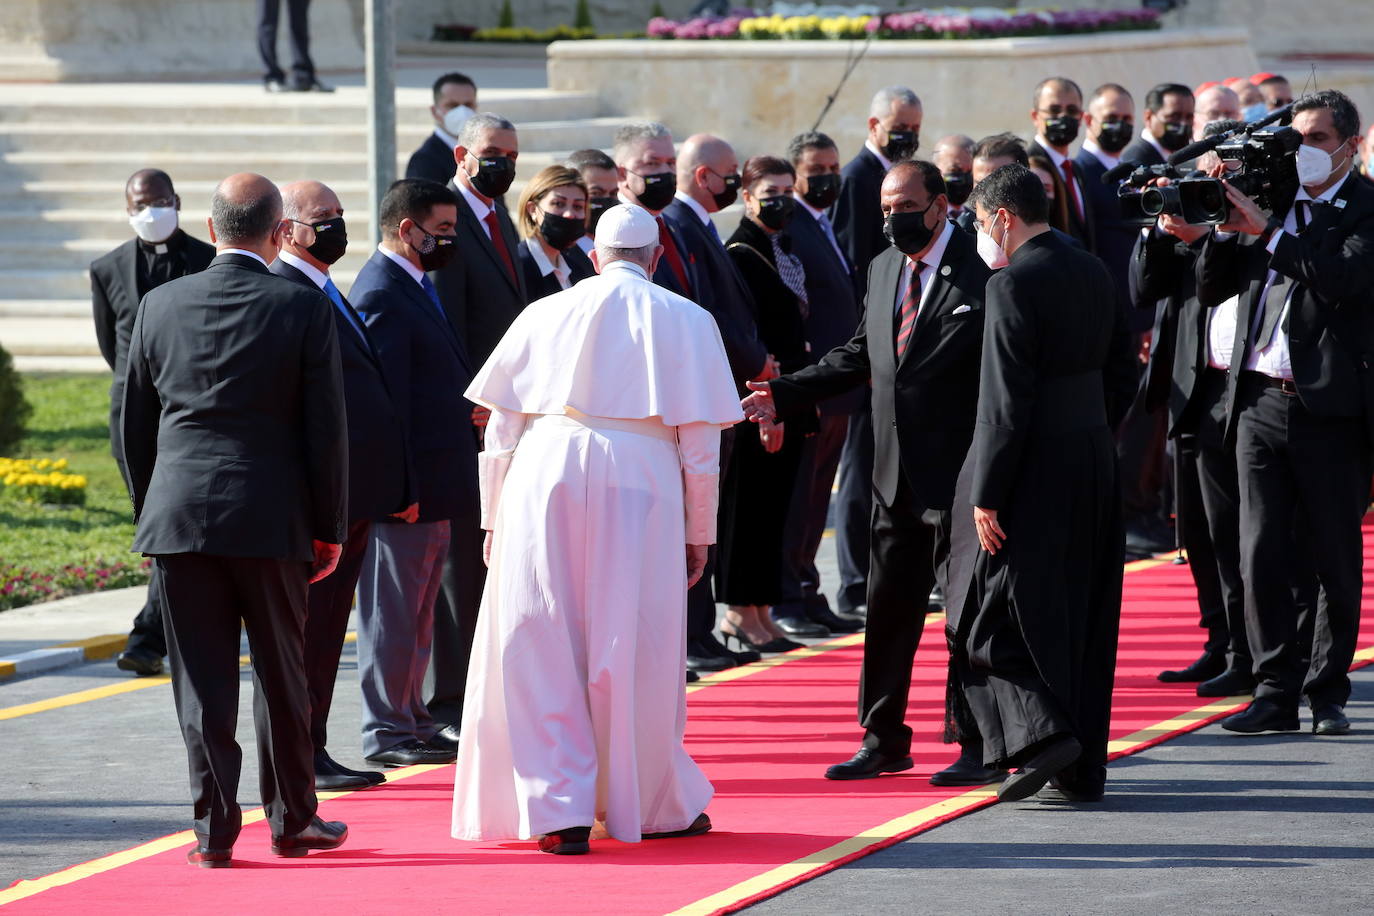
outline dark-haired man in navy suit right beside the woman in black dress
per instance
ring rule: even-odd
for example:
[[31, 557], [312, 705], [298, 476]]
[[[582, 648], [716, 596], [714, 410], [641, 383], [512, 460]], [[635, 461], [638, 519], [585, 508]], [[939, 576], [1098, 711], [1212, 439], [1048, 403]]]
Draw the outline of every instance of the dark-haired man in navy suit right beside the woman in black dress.
[[[859, 325], [859, 299], [853, 271], [830, 225], [826, 210], [840, 191], [840, 150], [819, 130], [798, 133], [787, 143], [787, 159], [797, 170], [793, 196], [796, 216], [787, 224], [791, 253], [801, 260], [807, 277], [807, 343], [812, 360], [842, 346]], [[834, 633], [863, 629], [863, 621], [841, 617], [820, 592], [816, 551], [826, 530], [830, 490], [840, 467], [849, 419], [864, 409], [861, 389], [816, 404], [819, 430], [807, 437], [793, 485], [787, 526], [783, 529], [782, 602], [779, 618], [805, 618]]]

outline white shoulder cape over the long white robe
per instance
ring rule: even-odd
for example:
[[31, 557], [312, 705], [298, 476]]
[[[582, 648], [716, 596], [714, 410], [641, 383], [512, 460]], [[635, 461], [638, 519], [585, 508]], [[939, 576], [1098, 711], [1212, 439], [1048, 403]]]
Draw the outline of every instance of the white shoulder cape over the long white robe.
[[743, 419], [716, 320], [620, 262], [521, 312], [467, 398], [668, 426]]

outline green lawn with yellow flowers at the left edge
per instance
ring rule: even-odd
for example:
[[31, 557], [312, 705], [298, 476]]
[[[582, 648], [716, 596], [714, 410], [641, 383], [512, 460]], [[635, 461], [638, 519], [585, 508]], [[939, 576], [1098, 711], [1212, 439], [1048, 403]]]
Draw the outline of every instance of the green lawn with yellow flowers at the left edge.
[[[65, 593], [146, 581], [142, 558], [129, 552], [133, 520], [120, 468], [110, 456], [110, 376], [25, 375], [33, 405], [18, 453], [7, 457], [65, 457], [69, 471], [85, 475], [85, 505], [30, 505], [0, 499], [0, 584], [4, 567], [26, 569], [44, 586], [12, 589], [0, 610]], [[115, 564], [135, 569], [124, 570]], [[77, 567], [76, 570], [65, 567]], [[100, 570], [110, 570], [100, 574]], [[10, 580], [15, 571], [10, 570]], [[27, 600], [25, 595], [27, 592]]]

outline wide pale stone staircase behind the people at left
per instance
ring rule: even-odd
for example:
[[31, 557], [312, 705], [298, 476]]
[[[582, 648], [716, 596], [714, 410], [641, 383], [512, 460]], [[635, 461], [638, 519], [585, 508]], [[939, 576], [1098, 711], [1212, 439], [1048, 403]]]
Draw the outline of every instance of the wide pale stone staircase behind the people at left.
[[[397, 176], [431, 130], [429, 91], [397, 89]], [[622, 118], [595, 93], [486, 89], [481, 107], [519, 129], [519, 185], [569, 151], [609, 147]], [[131, 238], [124, 183], [166, 170], [181, 225], [205, 239], [209, 198], [234, 172], [279, 184], [317, 179], [344, 202], [350, 250], [335, 265], [349, 288], [371, 254], [367, 100], [267, 95], [253, 84], [10, 84], [0, 92], [0, 343], [23, 371], [106, 371], [91, 321], [92, 260]]]

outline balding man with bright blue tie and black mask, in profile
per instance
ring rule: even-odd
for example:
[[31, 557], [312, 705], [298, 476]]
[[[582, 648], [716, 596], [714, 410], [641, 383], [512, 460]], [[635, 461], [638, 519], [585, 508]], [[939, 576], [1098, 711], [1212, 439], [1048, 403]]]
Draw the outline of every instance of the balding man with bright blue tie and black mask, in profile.
[[291, 229], [282, 240], [282, 253], [268, 269], [293, 283], [320, 290], [334, 305], [339, 363], [344, 367], [344, 404], [348, 409], [348, 540], [344, 541], [338, 567], [311, 585], [305, 618], [305, 680], [311, 694], [315, 787], [365, 788], [385, 779], [371, 770], [348, 769], [326, 750], [334, 683], [372, 522], [386, 516], [414, 522], [419, 511], [407, 467], [401, 413], [392, 402], [382, 364], [363, 319], [330, 277], [330, 265], [344, 257], [348, 247], [344, 206], [338, 195], [319, 181], [283, 185], [282, 205]]

